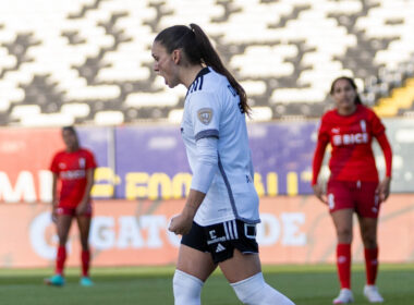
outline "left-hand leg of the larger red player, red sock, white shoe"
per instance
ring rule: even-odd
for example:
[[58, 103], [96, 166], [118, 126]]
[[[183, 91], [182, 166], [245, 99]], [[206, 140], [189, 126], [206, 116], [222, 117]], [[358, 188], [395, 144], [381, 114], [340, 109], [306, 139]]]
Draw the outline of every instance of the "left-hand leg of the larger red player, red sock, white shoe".
[[354, 301], [351, 291], [351, 243], [352, 243], [352, 218], [353, 209], [340, 209], [331, 213], [337, 231], [337, 267], [338, 278], [341, 284], [339, 295], [333, 304], [346, 304]]

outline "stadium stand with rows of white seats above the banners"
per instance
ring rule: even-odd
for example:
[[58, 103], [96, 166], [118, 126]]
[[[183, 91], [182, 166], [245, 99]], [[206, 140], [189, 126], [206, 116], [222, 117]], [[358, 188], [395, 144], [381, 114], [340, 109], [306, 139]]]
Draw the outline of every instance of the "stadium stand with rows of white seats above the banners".
[[414, 1], [13, 0], [0, 13], [0, 125], [180, 120], [155, 35], [195, 22], [244, 85], [255, 120], [314, 118], [331, 81], [357, 78], [381, 115], [411, 115]]

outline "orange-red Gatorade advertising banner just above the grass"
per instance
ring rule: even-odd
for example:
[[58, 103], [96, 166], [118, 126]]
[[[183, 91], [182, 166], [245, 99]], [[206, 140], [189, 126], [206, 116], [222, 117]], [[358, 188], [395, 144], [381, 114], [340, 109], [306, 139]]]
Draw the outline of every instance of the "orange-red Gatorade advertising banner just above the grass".
[[[96, 202], [90, 244], [94, 266], [174, 264], [180, 237], [167, 228], [184, 200]], [[333, 263], [336, 239], [327, 207], [308, 197], [268, 197], [260, 203], [257, 240], [263, 264]], [[357, 222], [354, 260], [363, 259]], [[413, 261], [414, 195], [392, 195], [379, 223], [380, 260]], [[76, 225], [68, 242], [69, 266], [80, 265]], [[50, 207], [0, 205], [0, 268], [54, 265], [57, 235]]]

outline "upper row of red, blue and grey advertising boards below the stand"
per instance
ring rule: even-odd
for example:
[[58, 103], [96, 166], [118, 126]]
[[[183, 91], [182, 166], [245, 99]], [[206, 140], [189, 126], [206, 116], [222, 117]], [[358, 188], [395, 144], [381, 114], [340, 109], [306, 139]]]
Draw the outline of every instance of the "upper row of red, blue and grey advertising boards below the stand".
[[[392, 192], [412, 193], [414, 120], [385, 120], [393, 149]], [[255, 185], [260, 196], [312, 193], [316, 121], [248, 124]], [[178, 125], [81, 126], [81, 144], [98, 162], [96, 199], [185, 196], [191, 171]], [[60, 129], [0, 129], [0, 202], [50, 202], [51, 158], [63, 148]], [[380, 176], [382, 151], [375, 142]], [[321, 182], [329, 174], [325, 167]]]

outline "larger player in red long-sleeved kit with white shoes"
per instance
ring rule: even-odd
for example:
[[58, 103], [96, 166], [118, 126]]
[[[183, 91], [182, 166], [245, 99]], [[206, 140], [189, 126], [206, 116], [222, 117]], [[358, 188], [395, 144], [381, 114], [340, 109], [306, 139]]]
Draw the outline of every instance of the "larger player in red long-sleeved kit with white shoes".
[[[380, 204], [390, 193], [392, 152], [385, 126], [374, 111], [361, 103], [352, 78], [333, 81], [330, 94], [336, 108], [324, 114], [313, 161], [315, 195], [329, 206], [337, 231], [337, 266], [341, 291], [333, 304], [353, 302], [351, 291], [352, 217], [356, 212], [365, 247], [366, 285], [370, 303], [383, 298], [375, 285], [378, 270], [377, 219]], [[379, 182], [372, 141], [376, 137], [386, 160], [386, 178]], [[325, 149], [332, 147], [327, 196], [317, 183]]]

